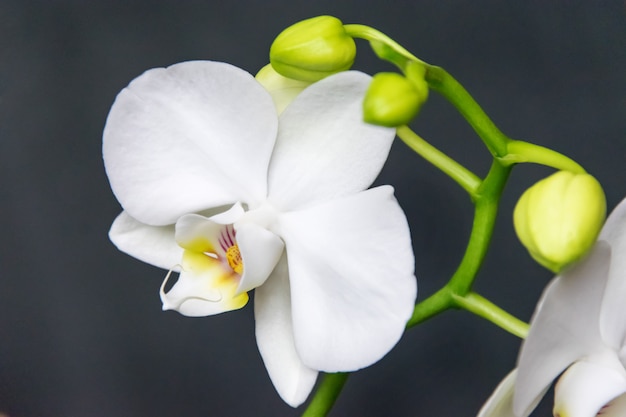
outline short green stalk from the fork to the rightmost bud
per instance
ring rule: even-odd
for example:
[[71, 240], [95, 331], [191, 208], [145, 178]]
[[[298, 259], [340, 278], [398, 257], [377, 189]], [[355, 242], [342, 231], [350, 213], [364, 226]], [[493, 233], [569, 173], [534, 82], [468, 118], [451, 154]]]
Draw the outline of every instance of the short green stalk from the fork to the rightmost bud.
[[571, 171], [577, 174], [584, 174], [585, 169], [576, 161], [567, 156], [521, 140], [512, 140], [507, 145], [507, 155], [500, 158], [505, 164], [517, 164], [520, 162], [533, 162], [546, 165], [552, 168]]

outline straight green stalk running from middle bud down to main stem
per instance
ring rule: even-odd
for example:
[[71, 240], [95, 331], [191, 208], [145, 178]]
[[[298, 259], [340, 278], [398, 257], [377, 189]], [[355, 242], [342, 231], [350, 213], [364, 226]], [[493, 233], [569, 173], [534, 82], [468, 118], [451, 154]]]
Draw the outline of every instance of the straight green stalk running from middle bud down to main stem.
[[476, 193], [481, 180], [474, 173], [426, 142], [408, 126], [399, 126], [396, 134], [409, 148], [456, 181], [471, 196]]

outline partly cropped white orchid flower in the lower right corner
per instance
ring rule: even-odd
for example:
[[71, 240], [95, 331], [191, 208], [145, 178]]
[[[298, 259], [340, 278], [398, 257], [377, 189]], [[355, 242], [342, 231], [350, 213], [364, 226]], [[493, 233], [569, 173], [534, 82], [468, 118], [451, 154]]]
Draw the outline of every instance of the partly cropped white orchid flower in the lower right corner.
[[586, 258], [546, 288], [517, 373], [500, 384], [479, 416], [530, 415], [561, 373], [556, 417], [626, 415], [626, 200]]

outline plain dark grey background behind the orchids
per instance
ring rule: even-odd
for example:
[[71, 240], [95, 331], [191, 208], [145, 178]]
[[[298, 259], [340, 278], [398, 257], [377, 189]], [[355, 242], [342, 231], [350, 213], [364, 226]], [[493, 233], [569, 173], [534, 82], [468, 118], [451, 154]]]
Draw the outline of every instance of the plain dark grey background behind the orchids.
[[[144, 70], [190, 59], [255, 72], [297, 20], [374, 26], [454, 74], [512, 137], [560, 150], [626, 194], [626, 8], [617, 1], [0, 1], [0, 412], [12, 417], [297, 416], [275, 393], [250, 306], [163, 313], [163, 271], [116, 251], [120, 211], [101, 132]], [[387, 70], [359, 43], [357, 68]], [[489, 158], [435, 94], [415, 128], [479, 174]], [[477, 289], [528, 319], [550, 274], [517, 242], [519, 194], [551, 172], [517, 169]], [[397, 143], [379, 183], [412, 227], [423, 299], [460, 259], [471, 204]], [[449, 312], [349, 379], [333, 416], [472, 416], [519, 341]], [[549, 415], [544, 404], [542, 415]], [[538, 413], [539, 414], [539, 413]]]

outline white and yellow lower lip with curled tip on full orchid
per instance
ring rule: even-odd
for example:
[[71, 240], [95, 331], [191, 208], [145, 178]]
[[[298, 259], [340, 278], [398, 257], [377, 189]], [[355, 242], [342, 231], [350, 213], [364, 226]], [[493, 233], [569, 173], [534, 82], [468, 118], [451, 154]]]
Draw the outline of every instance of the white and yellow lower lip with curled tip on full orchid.
[[168, 276], [161, 285], [163, 310], [190, 316], [209, 316], [236, 310], [248, 302], [248, 294], [236, 294], [239, 275], [218, 259], [186, 250], [176, 284], [166, 293]]

